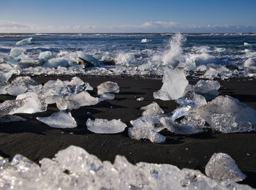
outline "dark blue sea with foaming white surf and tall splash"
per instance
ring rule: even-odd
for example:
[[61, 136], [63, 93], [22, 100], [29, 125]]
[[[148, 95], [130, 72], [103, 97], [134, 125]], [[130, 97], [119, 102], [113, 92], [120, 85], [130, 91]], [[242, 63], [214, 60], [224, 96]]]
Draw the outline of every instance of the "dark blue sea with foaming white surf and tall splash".
[[[32, 38], [29, 44], [16, 45], [26, 38]], [[15, 47], [21, 49], [15, 51], [16, 57], [10, 54]], [[45, 51], [50, 51], [52, 60], [39, 57]], [[0, 34], [0, 62], [17, 64], [20, 72], [74, 74], [81, 72], [75, 62], [78, 56], [95, 64], [83, 70], [89, 75], [162, 75], [170, 66], [208, 71], [205, 76], [210, 78], [253, 76], [256, 34]], [[110, 59], [116, 65], [104, 64]]]

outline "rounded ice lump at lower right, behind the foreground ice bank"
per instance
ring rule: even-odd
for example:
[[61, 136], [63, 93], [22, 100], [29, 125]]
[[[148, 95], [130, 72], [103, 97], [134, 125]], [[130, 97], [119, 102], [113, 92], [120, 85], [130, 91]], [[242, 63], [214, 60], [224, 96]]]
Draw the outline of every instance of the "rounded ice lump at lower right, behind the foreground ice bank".
[[211, 156], [206, 164], [206, 175], [222, 183], [233, 183], [246, 178], [246, 175], [239, 170], [236, 161], [227, 153], [214, 153]]

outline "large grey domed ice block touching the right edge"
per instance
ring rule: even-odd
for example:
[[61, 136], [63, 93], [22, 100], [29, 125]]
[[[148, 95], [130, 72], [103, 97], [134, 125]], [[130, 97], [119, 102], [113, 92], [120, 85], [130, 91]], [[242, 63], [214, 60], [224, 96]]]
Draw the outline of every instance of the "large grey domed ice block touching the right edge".
[[212, 129], [225, 133], [250, 132], [256, 123], [256, 110], [231, 96], [218, 96], [191, 113], [203, 118]]

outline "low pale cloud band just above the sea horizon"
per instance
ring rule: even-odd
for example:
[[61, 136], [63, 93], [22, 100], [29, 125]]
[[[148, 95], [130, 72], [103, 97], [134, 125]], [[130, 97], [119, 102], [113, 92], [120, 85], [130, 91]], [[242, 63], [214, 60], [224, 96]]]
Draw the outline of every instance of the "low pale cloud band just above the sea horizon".
[[16, 23], [0, 20], [0, 32], [250, 32], [256, 31], [256, 26], [230, 26], [230, 25], [181, 25], [173, 21], [148, 21], [141, 25], [119, 26], [39, 26], [27, 23]]

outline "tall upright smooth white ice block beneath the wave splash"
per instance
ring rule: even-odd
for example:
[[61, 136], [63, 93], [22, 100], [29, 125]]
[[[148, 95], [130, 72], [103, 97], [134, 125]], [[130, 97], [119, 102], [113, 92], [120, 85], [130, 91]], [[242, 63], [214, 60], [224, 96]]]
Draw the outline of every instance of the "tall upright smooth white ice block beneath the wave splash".
[[184, 95], [185, 88], [189, 82], [182, 70], [166, 67], [162, 83], [162, 88], [159, 91], [154, 92], [154, 99], [178, 99]]

